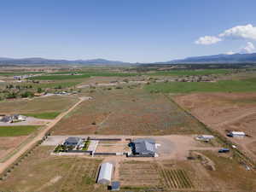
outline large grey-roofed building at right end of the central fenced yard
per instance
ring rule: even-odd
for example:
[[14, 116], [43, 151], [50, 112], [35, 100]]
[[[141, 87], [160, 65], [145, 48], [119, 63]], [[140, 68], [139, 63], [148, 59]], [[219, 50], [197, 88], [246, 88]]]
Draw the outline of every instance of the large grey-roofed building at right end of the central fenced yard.
[[155, 142], [153, 139], [135, 139], [130, 143], [132, 154], [141, 157], [154, 157]]

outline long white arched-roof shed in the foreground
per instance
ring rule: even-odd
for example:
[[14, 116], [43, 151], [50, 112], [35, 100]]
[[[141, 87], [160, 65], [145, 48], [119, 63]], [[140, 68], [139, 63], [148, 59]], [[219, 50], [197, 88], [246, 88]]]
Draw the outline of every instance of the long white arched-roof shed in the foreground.
[[108, 184], [111, 182], [113, 172], [113, 164], [112, 163], [102, 163], [97, 183]]

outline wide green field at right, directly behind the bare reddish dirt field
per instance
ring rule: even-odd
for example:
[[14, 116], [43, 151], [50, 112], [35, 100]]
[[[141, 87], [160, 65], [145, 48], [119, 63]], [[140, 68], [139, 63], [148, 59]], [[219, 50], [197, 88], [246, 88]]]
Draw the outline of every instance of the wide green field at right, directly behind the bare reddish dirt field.
[[170, 82], [148, 84], [150, 92], [192, 93], [192, 92], [253, 92], [256, 91], [256, 79], [221, 80], [218, 82]]

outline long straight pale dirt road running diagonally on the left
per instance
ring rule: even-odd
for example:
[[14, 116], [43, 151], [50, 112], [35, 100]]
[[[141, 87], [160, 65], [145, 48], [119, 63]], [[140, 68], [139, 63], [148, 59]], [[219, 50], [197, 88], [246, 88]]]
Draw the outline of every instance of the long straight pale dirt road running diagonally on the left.
[[40, 141], [45, 134], [54, 126], [56, 125], [67, 113], [70, 113], [74, 108], [76, 108], [81, 102], [84, 102], [87, 99], [87, 97], [80, 97], [79, 102], [73, 105], [72, 108], [69, 108], [66, 112], [63, 112], [59, 114], [56, 119], [51, 121], [49, 125], [38, 133], [38, 136], [34, 137], [31, 142], [26, 143], [26, 145], [23, 148], [20, 148], [20, 150], [15, 153], [13, 156], [9, 158], [9, 160], [6, 160], [3, 163], [0, 163], [0, 174], [3, 173], [10, 165], [12, 165], [15, 160], [17, 160], [22, 154], [24, 154], [29, 148], [32, 148], [34, 144], [36, 144], [38, 141]]

